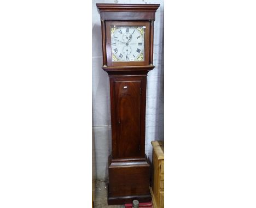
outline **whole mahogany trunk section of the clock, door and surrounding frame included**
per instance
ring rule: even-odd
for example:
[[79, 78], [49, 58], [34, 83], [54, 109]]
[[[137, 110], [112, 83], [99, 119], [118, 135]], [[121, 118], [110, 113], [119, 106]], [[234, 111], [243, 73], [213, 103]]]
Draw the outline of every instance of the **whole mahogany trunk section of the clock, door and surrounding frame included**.
[[110, 76], [114, 159], [144, 157], [146, 78], [146, 76]]

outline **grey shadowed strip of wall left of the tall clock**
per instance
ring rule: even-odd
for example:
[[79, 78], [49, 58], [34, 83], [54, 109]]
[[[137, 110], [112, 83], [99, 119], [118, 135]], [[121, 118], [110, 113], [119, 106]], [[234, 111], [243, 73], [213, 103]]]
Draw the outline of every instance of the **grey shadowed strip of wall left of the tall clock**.
[[92, 27], [92, 151], [97, 180], [108, 178], [108, 156], [111, 149], [110, 95], [108, 74], [102, 70], [100, 21]]

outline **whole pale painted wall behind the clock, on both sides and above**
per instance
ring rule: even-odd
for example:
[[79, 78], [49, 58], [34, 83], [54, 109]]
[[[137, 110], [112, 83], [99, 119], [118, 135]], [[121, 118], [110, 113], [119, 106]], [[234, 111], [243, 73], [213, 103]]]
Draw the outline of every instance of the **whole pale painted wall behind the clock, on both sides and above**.
[[108, 178], [111, 152], [111, 121], [108, 74], [101, 69], [101, 22], [96, 3], [159, 3], [154, 23], [155, 69], [148, 73], [146, 107], [146, 154], [152, 158], [153, 140], [164, 140], [164, 1], [92, 0], [92, 177]]

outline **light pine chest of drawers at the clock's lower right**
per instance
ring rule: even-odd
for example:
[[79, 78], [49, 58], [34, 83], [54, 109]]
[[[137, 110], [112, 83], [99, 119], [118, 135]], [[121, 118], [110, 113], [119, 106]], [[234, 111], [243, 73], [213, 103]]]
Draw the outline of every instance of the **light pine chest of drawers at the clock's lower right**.
[[150, 192], [154, 208], [162, 208], [164, 207], [164, 142], [153, 141], [151, 143], [153, 146], [153, 175]]

